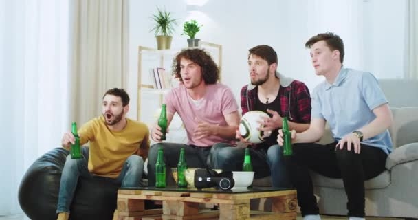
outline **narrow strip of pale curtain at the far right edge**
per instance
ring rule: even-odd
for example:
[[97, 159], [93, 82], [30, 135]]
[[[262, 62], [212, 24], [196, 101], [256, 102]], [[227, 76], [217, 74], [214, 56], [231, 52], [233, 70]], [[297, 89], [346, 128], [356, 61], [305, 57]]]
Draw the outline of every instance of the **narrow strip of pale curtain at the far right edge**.
[[418, 1], [406, 1], [405, 78], [418, 80]]

